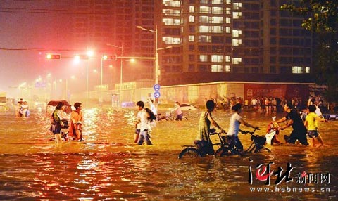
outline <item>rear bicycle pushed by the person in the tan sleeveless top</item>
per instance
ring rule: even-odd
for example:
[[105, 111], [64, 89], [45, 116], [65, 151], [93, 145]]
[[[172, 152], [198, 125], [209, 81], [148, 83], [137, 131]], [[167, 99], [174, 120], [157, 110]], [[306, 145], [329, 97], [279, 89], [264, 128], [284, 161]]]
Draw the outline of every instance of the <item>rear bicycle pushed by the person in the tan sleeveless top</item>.
[[[218, 145], [220, 148], [223, 146], [226, 146], [225, 141], [222, 132], [215, 132], [215, 129], [211, 129], [211, 134], [210, 135], [218, 135], [218, 138], [220, 139], [220, 142], [218, 143], [213, 143], [212, 145]], [[208, 153], [206, 150], [207, 148], [202, 146], [202, 141], [194, 141], [194, 145], [182, 145], [183, 150], [181, 150], [180, 154], [178, 155], [178, 158], [181, 159], [187, 158], [187, 157], [205, 157]], [[216, 155], [217, 151], [215, 152]]]

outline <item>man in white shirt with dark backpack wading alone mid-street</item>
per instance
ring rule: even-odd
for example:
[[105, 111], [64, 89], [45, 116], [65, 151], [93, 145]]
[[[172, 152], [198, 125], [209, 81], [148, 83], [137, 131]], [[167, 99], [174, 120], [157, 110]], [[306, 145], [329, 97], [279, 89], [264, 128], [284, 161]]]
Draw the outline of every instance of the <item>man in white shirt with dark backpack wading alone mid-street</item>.
[[139, 139], [137, 141], [137, 144], [142, 145], [145, 140], [147, 145], [152, 145], [153, 143], [151, 143], [150, 134], [149, 134], [151, 131], [150, 120], [149, 120], [150, 115], [144, 109], [143, 101], [137, 102], [136, 105], [137, 105], [137, 109], [139, 110], [139, 112], [137, 113], [136, 124], [139, 124], [139, 129], [141, 130], [139, 133]]

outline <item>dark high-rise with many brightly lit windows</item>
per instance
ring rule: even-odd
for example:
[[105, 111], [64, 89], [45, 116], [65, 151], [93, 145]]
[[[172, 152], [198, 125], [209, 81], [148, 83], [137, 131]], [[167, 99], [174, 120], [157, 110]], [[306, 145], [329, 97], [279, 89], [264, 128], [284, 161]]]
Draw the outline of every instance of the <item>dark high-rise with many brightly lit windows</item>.
[[160, 83], [311, 82], [312, 36], [286, 1], [163, 0]]

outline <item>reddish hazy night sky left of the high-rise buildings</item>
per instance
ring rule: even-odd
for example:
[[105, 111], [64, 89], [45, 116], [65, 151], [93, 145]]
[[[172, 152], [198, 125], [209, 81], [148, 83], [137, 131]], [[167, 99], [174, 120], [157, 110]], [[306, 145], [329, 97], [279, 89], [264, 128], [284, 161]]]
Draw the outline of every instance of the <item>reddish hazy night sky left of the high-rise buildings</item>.
[[62, 77], [70, 59], [46, 60], [45, 53], [71, 56], [70, 1], [0, 1], [0, 91], [11, 91], [51, 73]]

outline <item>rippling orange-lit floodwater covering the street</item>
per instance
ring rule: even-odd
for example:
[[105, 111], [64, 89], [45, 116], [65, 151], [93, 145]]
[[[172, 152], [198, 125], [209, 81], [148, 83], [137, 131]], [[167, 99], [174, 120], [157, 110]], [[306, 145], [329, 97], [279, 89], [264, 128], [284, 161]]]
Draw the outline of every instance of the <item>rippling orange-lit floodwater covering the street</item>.
[[[187, 113], [185, 122], [152, 123], [149, 146], [133, 143], [134, 108], [84, 110], [84, 141], [58, 146], [46, 112], [0, 114], [0, 200], [337, 200], [338, 121], [320, 123], [321, 148], [277, 145], [271, 153], [179, 160], [181, 145], [196, 137], [200, 112]], [[213, 116], [227, 130], [230, 113]], [[242, 116], [265, 134], [273, 115]], [[250, 136], [239, 137], [249, 147]], [[256, 179], [269, 162], [271, 171], [282, 168], [280, 183], [275, 174], [270, 185]]]

